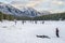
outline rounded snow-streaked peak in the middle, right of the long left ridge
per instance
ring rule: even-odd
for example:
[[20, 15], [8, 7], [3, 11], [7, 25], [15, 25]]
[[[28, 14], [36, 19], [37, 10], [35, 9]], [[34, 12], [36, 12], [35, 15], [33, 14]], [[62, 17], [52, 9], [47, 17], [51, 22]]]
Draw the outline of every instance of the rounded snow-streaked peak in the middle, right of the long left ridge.
[[31, 17], [38, 15], [38, 12], [35, 9], [32, 9], [32, 8], [23, 8], [21, 11], [24, 12], [25, 15], [29, 15]]

